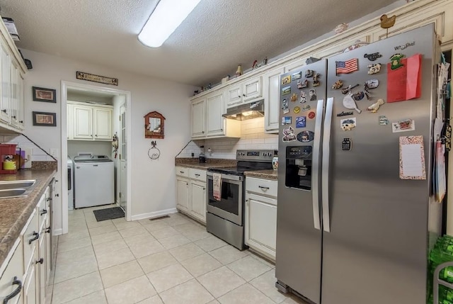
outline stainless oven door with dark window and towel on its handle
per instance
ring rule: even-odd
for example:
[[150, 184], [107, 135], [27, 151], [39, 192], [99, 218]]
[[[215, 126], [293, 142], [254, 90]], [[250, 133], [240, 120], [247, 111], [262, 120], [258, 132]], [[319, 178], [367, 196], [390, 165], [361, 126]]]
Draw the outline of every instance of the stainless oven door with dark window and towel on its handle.
[[243, 225], [243, 176], [222, 174], [220, 201], [212, 194], [212, 173], [207, 172], [207, 204], [209, 213], [229, 220], [236, 225]]

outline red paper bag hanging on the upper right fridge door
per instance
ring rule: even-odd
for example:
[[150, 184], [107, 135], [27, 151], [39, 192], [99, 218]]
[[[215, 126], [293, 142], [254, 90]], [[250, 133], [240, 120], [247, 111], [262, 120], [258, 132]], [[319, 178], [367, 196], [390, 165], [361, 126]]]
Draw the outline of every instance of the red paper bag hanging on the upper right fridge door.
[[421, 96], [421, 55], [401, 59], [401, 67], [387, 64], [387, 102], [407, 101]]

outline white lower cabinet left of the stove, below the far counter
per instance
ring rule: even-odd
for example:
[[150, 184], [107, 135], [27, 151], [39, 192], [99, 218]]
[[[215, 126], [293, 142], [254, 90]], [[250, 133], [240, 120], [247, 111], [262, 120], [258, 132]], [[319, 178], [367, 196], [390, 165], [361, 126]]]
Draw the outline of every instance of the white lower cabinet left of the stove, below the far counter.
[[176, 208], [206, 223], [206, 171], [176, 167]]

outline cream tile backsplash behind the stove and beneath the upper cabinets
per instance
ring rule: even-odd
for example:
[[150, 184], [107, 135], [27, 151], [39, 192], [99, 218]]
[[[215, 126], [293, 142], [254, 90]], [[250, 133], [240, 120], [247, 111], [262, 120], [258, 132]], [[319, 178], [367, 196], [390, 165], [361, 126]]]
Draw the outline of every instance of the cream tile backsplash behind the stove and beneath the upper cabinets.
[[[201, 146], [205, 146], [201, 148]], [[211, 149], [211, 153], [208, 152]], [[264, 133], [264, 118], [241, 121], [241, 138], [193, 140], [177, 157], [198, 157], [203, 150], [207, 158], [236, 159], [236, 150], [278, 150], [278, 135]]]

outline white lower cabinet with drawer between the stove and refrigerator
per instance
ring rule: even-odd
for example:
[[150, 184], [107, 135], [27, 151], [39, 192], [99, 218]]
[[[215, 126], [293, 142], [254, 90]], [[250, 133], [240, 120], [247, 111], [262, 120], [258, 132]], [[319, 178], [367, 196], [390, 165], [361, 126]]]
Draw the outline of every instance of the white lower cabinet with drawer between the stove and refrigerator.
[[277, 181], [246, 177], [245, 242], [275, 261]]

